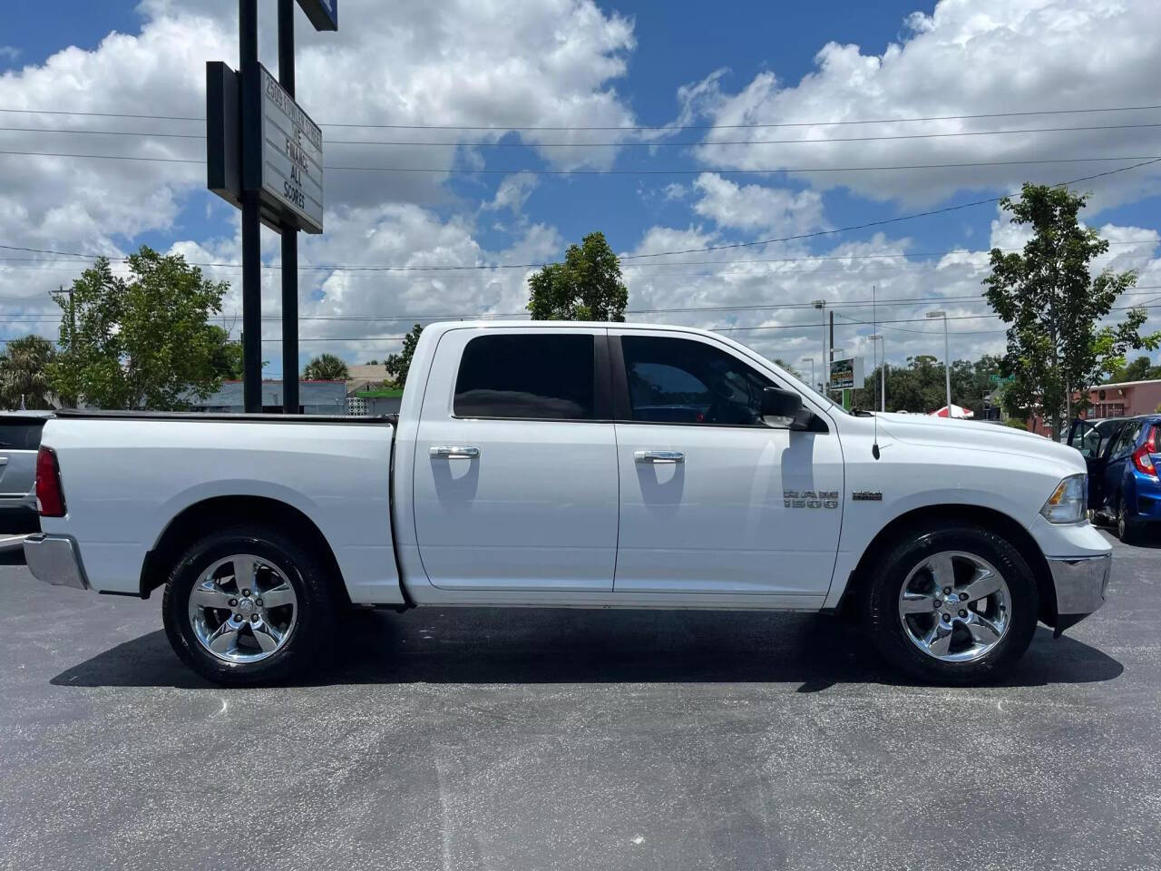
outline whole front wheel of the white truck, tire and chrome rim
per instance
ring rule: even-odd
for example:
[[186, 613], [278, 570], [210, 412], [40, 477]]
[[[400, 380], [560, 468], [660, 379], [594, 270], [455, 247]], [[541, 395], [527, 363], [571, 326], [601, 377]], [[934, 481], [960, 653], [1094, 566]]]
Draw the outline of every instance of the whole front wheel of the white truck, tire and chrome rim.
[[864, 607], [871, 640], [886, 660], [922, 681], [986, 683], [1032, 641], [1036, 578], [991, 530], [926, 527], [890, 548], [873, 571]]

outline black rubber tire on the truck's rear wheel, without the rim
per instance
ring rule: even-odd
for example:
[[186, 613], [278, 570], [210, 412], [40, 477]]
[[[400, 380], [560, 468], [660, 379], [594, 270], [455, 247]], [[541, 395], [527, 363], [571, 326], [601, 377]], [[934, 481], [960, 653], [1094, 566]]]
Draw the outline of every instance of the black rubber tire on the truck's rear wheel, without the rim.
[[[277, 567], [297, 599], [297, 620], [284, 645], [257, 662], [218, 658], [199, 641], [189, 618], [189, 596], [202, 573], [236, 554], [252, 554]], [[247, 525], [210, 533], [189, 547], [170, 574], [161, 600], [165, 634], [182, 662], [226, 686], [272, 684], [308, 674], [331, 656], [338, 611], [331, 574], [313, 548], [277, 530]]]

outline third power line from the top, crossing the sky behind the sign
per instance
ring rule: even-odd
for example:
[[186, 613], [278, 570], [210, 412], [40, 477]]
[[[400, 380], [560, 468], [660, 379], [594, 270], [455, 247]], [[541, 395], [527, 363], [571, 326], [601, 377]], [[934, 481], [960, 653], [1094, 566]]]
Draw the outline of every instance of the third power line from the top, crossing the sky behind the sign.
[[[64, 151], [16, 151], [16, 150], [0, 150], [0, 154], [8, 154], [14, 157], [59, 157], [59, 158], [72, 158], [78, 160], [134, 160], [142, 163], [158, 163], [158, 164], [195, 164], [204, 165], [204, 160], [193, 159], [193, 158], [179, 158], [179, 157], [144, 157], [139, 154], [84, 154], [77, 152], [64, 152]], [[434, 166], [339, 166], [339, 165], [325, 165], [323, 168], [329, 172], [383, 172], [383, 173], [435, 173], [435, 174], [449, 174], [449, 175], [701, 175], [702, 173], [714, 172], [719, 175], [769, 175], [773, 173], [824, 173], [824, 172], [896, 172], [896, 171], [915, 171], [915, 170], [961, 170], [961, 168], [974, 168], [981, 166], [1036, 166], [1041, 164], [1083, 164], [1083, 163], [1108, 163], [1115, 160], [1141, 160], [1144, 163], [1134, 164], [1132, 167], [1124, 167], [1125, 170], [1135, 168], [1137, 166], [1145, 166], [1146, 164], [1156, 163], [1161, 160], [1161, 157], [1068, 157], [1068, 158], [1043, 158], [1038, 160], [974, 160], [971, 163], [959, 163], [959, 164], [900, 164], [895, 166], [784, 166], [784, 167], [771, 167], [764, 170], [532, 170], [532, 168], [515, 168], [515, 170], [476, 170], [476, 168], [464, 168], [464, 167], [434, 167]], [[1122, 172], [1117, 170], [1115, 172]], [[1099, 178], [1099, 175], [1106, 175], [1110, 173], [1099, 173], [1098, 175], [1089, 175], [1087, 178]], [[1080, 179], [1083, 180], [1083, 179]], [[1072, 183], [1072, 182], [1067, 182]], [[639, 257], [646, 257], [644, 254], [639, 254]]]

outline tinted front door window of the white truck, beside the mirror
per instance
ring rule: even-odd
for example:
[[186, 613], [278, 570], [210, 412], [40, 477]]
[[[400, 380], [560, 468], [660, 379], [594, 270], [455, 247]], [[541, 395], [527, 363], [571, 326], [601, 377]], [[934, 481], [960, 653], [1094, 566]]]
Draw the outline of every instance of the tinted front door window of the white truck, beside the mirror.
[[629, 416], [672, 424], [762, 424], [762, 395], [774, 383], [736, 357], [691, 339], [622, 336]]

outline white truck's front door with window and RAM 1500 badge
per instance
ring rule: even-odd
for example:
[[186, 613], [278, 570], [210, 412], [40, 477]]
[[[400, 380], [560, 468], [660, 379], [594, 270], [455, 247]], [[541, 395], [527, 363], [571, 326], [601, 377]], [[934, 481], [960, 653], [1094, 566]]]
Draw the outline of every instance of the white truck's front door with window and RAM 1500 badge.
[[785, 384], [726, 343], [611, 334], [615, 591], [825, 595], [843, 512], [838, 437], [765, 425], [762, 393]]

